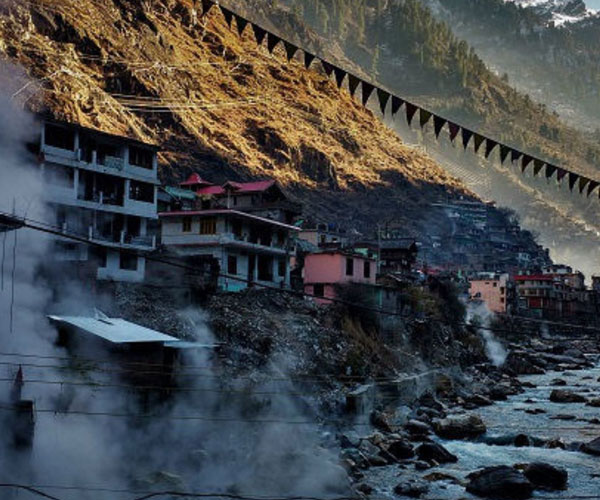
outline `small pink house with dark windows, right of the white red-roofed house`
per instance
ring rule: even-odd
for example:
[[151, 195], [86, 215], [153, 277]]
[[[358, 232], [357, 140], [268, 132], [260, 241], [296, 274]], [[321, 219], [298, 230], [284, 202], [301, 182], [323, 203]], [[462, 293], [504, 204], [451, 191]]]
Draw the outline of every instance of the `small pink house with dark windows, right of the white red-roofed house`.
[[304, 292], [320, 304], [335, 298], [335, 286], [347, 283], [375, 285], [377, 262], [343, 250], [313, 253], [304, 259]]

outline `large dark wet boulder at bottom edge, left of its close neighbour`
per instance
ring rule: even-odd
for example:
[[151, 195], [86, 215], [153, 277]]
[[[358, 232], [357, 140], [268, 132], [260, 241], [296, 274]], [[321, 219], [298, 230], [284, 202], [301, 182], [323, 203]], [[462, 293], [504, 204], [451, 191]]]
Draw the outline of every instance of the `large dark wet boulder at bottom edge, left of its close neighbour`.
[[487, 467], [467, 476], [467, 491], [480, 497], [531, 498], [533, 484], [518, 470], [501, 465]]

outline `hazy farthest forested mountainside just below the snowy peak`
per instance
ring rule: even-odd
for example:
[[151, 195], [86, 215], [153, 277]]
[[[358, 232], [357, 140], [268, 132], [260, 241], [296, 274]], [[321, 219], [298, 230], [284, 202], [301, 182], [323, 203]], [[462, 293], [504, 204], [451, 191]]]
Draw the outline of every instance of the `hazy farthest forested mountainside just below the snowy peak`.
[[423, 1], [517, 88], [575, 127], [600, 129], [600, 17], [554, 26], [503, 0]]

